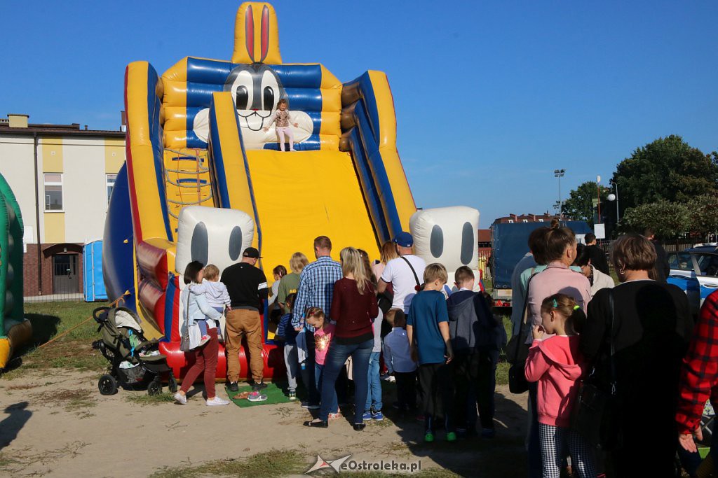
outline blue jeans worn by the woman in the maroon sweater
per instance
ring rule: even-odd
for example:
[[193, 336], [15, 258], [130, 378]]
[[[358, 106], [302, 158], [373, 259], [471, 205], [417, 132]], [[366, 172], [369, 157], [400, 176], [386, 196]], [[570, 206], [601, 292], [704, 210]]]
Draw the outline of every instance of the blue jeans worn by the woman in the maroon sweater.
[[321, 420], [327, 421], [327, 419], [329, 419], [332, 397], [336, 396], [335, 383], [337, 376], [339, 376], [339, 372], [344, 366], [344, 363], [351, 357], [353, 367], [352, 376], [354, 378], [354, 423], [364, 423], [361, 404], [366, 403], [369, 358], [373, 348], [373, 338], [365, 340], [362, 343], [350, 345], [343, 345], [332, 340], [332, 343], [329, 345], [329, 351], [327, 352], [327, 358], [324, 361], [324, 370], [322, 371], [322, 408], [320, 408], [319, 412], [319, 418]]

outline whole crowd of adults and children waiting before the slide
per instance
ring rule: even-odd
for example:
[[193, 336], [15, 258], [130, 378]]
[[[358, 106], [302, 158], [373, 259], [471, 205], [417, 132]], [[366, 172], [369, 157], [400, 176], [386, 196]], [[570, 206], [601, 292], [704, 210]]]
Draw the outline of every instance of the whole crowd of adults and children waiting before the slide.
[[[528, 390], [528, 474], [559, 477], [569, 468], [582, 478], [668, 476], [679, 451], [694, 476], [700, 459], [693, 437], [700, 438], [712, 387], [718, 390], [718, 296], [706, 300], [694, 336], [686, 295], [666, 283], [664, 270], [657, 272], [663, 258], [656, 244], [638, 234], [617, 239], [615, 285], [595, 237], [586, 239], [579, 247], [558, 221], [536, 229], [512, 277], [518, 348], [508, 359], [512, 369], [520, 367]], [[353, 247], [335, 261], [326, 236], [313, 245], [314, 262], [297, 252], [289, 274], [274, 268], [271, 294], [256, 267], [256, 249], [246, 249], [219, 280], [215, 267], [187, 266], [181, 297], [188, 322], [203, 325], [177, 401], [186, 403], [187, 388], [204, 373], [207, 404], [226, 402], [214, 391], [223, 337], [229, 390], [238, 389], [238, 352], [246, 338], [253, 380], [248, 399], [266, 400], [259, 311], [270, 299], [276, 340], [284, 343], [286, 393], [296, 399], [301, 381], [302, 406], [318, 410], [305, 426], [327, 428], [341, 416], [350, 380], [354, 429], [381, 421], [383, 362], [396, 381], [394, 406], [424, 421], [424, 441], [434, 441], [439, 430], [447, 441], [495, 436], [495, 370], [506, 335], [490, 297], [474, 292], [472, 270], [454, 271], [449, 290], [445, 267], [414, 255], [406, 232], [383, 244], [375, 263]], [[226, 330], [218, 333], [222, 312]], [[589, 387], [604, 397], [594, 408], [600, 416], [592, 430], [577, 419], [595, 406], [582, 393]]]

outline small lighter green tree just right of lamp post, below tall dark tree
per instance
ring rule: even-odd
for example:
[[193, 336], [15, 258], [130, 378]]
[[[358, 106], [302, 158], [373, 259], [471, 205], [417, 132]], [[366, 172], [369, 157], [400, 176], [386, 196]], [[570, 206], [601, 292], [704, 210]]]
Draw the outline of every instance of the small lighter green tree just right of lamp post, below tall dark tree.
[[661, 199], [628, 209], [621, 222], [639, 233], [650, 227], [656, 236], [671, 239], [691, 230], [691, 211], [688, 204]]

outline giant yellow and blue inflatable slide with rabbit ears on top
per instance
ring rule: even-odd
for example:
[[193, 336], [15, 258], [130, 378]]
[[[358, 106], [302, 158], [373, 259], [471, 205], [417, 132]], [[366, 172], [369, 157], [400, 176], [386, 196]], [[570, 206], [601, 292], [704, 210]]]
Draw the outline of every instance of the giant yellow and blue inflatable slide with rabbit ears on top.
[[[274, 125], [264, 130], [281, 99], [297, 152], [279, 151]], [[110, 300], [129, 291], [126, 304], [162, 338], [176, 376], [189, 365], [179, 350], [176, 260], [194, 244], [178, 234], [185, 206], [251, 216], [252, 244], [243, 247], [260, 249], [266, 272], [297, 250], [311, 257], [318, 235], [330, 236], [335, 254], [351, 245], [378, 257], [382, 242], [409, 230], [416, 206], [386, 75], [342, 83], [322, 64], [282, 62], [271, 4], [239, 7], [231, 61], [186, 57], [161, 77], [147, 62], [129, 64], [125, 107], [127, 161], [108, 211], [105, 282]], [[211, 257], [218, 253], [210, 262], [231, 262]], [[284, 368], [273, 350], [266, 340], [266, 376]], [[218, 378], [224, 363], [220, 350]]]

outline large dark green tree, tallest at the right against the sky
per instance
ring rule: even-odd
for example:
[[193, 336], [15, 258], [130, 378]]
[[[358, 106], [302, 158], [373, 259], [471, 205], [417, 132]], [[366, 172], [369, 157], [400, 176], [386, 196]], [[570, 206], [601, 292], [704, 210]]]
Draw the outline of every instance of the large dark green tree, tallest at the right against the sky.
[[718, 154], [701, 153], [677, 135], [658, 138], [621, 161], [613, 181], [622, 210], [661, 200], [687, 203], [718, 194]]

